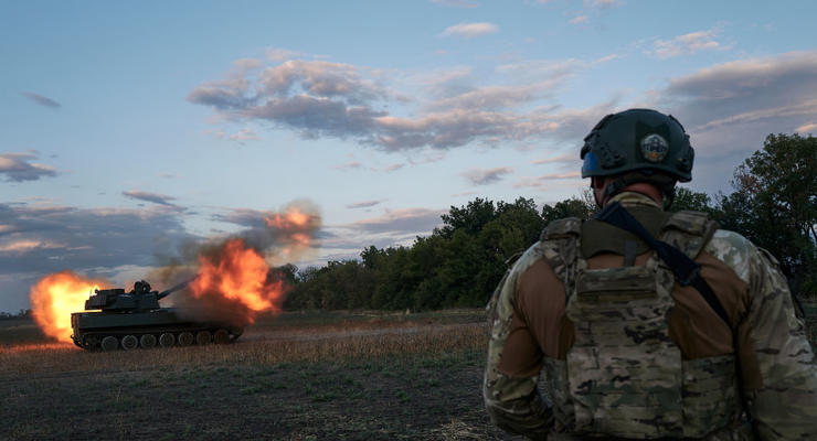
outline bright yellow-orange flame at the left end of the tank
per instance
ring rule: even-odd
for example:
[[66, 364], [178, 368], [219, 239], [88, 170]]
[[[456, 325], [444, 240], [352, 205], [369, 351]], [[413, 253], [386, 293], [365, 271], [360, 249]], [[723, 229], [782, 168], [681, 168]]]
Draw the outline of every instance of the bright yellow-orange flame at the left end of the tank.
[[29, 293], [34, 321], [45, 335], [61, 342], [71, 342], [71, 313], [85, 310], [88, 295], [103, 284], [105, 282], [71, 271], [40, 279]]

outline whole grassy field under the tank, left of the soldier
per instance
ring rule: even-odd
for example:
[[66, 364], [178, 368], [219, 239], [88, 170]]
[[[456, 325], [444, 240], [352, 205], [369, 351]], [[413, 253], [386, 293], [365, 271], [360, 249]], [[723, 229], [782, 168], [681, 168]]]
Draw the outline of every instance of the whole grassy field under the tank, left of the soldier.
[[285, 313], [232, 345], [88, 353], [0, 322], [0, 439], [518, 440], [480, 310]]

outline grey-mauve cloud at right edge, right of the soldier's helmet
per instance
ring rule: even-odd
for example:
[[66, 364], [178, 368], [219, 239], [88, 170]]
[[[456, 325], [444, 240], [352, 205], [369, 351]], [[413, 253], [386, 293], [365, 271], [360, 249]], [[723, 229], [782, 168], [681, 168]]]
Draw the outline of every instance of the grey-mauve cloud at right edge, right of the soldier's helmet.
[[768, 133], [817, 120], [817, 51], [718, 64], [672, 78], [654, 103], [704, 154], [745, 154]]

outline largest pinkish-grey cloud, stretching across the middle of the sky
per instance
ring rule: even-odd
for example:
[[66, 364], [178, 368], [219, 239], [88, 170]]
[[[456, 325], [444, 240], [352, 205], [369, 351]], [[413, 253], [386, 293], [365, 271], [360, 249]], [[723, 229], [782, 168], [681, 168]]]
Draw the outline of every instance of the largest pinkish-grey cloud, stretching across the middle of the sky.
[[[381, 83], [399, 75], [383, 76], [375, 69], [326, 61], [289, 60], [246, 71], [242, 78], [205, 83], [194, 88], [188, 100], [213, 107], [226, 121], [272, 122], [307, 139], [351, 138], [390, 152], [445, 150], [470, 143], [491, 147], [562, 137], [564, 130], [576, 135], [570, 121], [581, 112], [595, 116], [594, 109], [530, 106], [551, 97], [579, 69], [608, 60], [613, 57], [503, 65], [497, 73], [513, 84], [485, 87], [469, 84], [467, 68], [448, 69], [437, 82], [433, 77], [418, 79], [425, 90], [444, 92], [427, 97], [397, 94]], [[585, 125], [582, 131], [586, 130]], [[224, 137], [222, 131], [213, 135]]]

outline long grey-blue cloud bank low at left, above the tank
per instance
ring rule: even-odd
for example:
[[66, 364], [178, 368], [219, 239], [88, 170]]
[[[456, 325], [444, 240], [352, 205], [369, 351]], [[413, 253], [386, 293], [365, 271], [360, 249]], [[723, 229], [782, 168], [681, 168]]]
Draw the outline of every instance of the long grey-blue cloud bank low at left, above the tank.
[[[183, 239], [180, 213], [0, 204], [0, 275], [150, 265]], [[0, 291], [3, 291], [0, 288]]]

